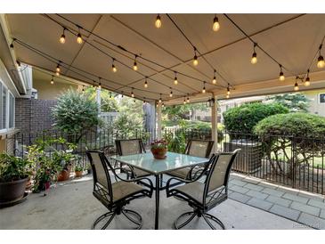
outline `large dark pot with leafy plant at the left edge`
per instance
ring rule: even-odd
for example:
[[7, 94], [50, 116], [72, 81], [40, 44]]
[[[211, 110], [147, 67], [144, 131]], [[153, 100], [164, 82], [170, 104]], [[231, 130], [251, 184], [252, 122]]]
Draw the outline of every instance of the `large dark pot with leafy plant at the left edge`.
[[31, 162], [0, 153], [0, 205], [18, 203], [24, 197]]

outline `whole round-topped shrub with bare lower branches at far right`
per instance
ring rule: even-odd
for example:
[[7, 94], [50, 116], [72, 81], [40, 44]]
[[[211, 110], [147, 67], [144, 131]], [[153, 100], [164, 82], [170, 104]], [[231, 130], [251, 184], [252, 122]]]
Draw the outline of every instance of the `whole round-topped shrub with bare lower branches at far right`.
[[309, 164], [310, 159], [325, 155], [325, 118], [318, 115], [273, 115], [261, 120], [254, 133], [264, 142], [265, 154], [275, 172], [285, 174], [282, 161], [290, 166], [288, 177], [297, 175], [297, 168]]

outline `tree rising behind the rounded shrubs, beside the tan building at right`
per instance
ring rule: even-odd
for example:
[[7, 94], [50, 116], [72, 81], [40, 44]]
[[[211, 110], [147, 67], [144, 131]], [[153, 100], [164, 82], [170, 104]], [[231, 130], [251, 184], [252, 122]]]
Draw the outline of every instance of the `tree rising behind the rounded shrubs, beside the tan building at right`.
[[305, 94], [279, 94], [267, 98], [272, 102], [278, 102], [288, 108], [290, 112], [307, 112], [310, 99], [306, 98]]

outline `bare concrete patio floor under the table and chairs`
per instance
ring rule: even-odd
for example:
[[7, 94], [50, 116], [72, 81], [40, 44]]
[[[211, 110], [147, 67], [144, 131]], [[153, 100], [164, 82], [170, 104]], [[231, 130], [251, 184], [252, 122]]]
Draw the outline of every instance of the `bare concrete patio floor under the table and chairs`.
[[[45, 197], [43, 194], [30, 194], [21, 204], [0, 209], [0, 229], [90, 229], [93, 221], [106, 209], [93, 198], [93, 182], [85, 177], [82, 179], [77, 183], [58, 185]], [[159, 229], [172, 229], [175, 218], [191, 210], [183, 201], [167, 199], [165, 191], [161, 191], [160, 206]], [[154, 198], [135, 199], [127, 208], [142, 215], [142, 229], [153, 229]], [[209, 213], [221, 219], [228, 230], [309, 229], [303, 224], [232, 199], [224, 201]], [[111, 225], [113, 229], [133, 227], [124, 216], [118, 216]], [[201, 219], [194, 219], [189, 228], [209, 229]]]

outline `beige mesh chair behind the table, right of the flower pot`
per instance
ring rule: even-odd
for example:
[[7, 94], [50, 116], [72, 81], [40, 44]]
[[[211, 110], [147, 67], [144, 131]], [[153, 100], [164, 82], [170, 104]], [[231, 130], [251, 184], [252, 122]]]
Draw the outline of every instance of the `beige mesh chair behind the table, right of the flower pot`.
[[[211, 150], [214, 146], [214, 143], [214, 141], [190, 140], [186, 145], [185, 154], [208, 159]], [[196, 175], [199, 175], [202, 170], [203, 167], [201, 166], [185, 167], [181, 169], [176, 169], [168, 173], [167, 175], [191, 180], [192, 178], [195, 178]]]

